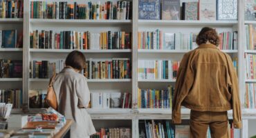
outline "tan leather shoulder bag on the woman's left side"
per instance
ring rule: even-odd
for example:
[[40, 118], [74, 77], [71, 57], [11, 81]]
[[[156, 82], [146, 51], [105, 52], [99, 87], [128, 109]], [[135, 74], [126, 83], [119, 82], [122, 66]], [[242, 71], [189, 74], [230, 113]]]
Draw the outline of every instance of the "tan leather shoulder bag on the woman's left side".
[[56, 74], [53, 75], [53, 77], [50, 79], [50, 82], [48, 84], [48, 90], [47, 90], [47, 95], [46, 95], [46, 102], [53, 109], [57, 110], [57, 98], [56, 98], [56, 93], [53, 90], [53, 81], [55, 79], [55, 76], [56, 76]]

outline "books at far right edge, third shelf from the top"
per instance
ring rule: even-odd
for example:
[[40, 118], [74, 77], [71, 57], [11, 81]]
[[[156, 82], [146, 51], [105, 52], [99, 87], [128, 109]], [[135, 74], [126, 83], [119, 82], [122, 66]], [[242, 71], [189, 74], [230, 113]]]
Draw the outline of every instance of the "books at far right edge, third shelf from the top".
[[245, 77], [247, 79], [256, 78], [256, 55], [246, 53], [244, 55]]

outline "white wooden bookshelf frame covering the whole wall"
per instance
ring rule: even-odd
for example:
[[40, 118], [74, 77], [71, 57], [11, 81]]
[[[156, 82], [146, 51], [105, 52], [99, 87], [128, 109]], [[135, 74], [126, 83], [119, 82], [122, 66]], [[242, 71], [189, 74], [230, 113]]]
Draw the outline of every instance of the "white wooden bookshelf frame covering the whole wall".
[[[139, 60], [172, 60], [181, 61], [183, 55], [190, 50], [147, 50], [138, 49], [138, 32], [140, 31], [156, 31], [163, 32], [199, 32], [204, 26], [216, 28], [218, 32], [238, 31], [238, 46], [237, 50], [222, 50], [228, 53], [232, 59], [237, 58], [240, 99], [244, 107], [244, 94], [246, 92], [246, 83], [256, 83], [256, 79], [246, 79], [244, 63], [244, 54], [256, 54], [256, 50], [246, 50], [244, 46], [244, 36], [246, 24], [256, 24], [256, 21], [246, 21], [244, 19], [244, 1], [238, 1], [238, 20], [237, 21], [185, 21], [185, 20], [143, 20], [138, 19], [138, 1], [132, 3], [132, 18], [127, 20], [91, 20], [91, 19], [30, 19], [30, 1], [24, 3], [24, 19], [0, 19], [0, 29], [17, 29], [24, 31], [24, 48], [0, 48], [0, 59], [23, 59], [23, 78], [0, 78], [0, 88], [22, 88], [24, 91], [23, 103], [24, 110], [15, 110], [14, 113], [35, 113], [42, 109], [29, 108], [28, 90], [30, 89], [46, 89], [49, 79], [30, 78], [30, 61], [33, 60], [48, 60], [55, 61], [65, 59], [70, 49], [36, 49], [30, 48], [30, 32], [33, 30], [53, 30], [60, 32], [63, 30], [73, 31], [125, 31], [132, 33], [131, 49], [113, 49], [113, 50], [80, 50], [84, 53], [86, 59], [112, 59], [112, 58], [129, 58], [131, 61], [132, 75], [130, 79], [88, 79], [88, 85], [91, 92], [95, 90], [120, 90], [121, 92], [130, 92], [132, 108], [90, 108], [90, 113], [95, 124], [102, 124], [100, 127], [110, 127], [113, 121], [117, 121], [113, 126], [118, 126], [125, 122], [125, 126], [131, 128], [134, 138], [138, 137], [139, 120], [143, 119], [171, 119], [172, 112], [170, 109], [152, 109], [138, 108], [138, 88], [142, 89], [158, 89], [163, 90], [167, 86], [175, 86], [175, 79], [140, 79], [138, 78]], [[43, 0], [46, 1], [46, 0]], [[61, 1], [61, 0], [51, 0]], [[102, 3], [104, 0], [100, 0]], [[118, 0], [113, 0], [118, 1]], [[186, 0], [187, 1], [187, 0]], [[189, 1], [189, 0], [188, 0]], [[70, 1], [68, 1], [70, 2]], [[73, 1], [72, 1], [73, 2]], [[82, 0], [77, 0], [78, 3], [84, 3]], [[87, 1], [86, 1], [87, 2]], [[16, 88], [16, 87], [15, 87]], [[190, 110], [181, 110], [182, 119], [190, 118]], [[247, 138], [248, 120], [256, 119], [255, 109], [242, 109], [243, 125], [242, 137]], [[232, 119], [232, 112], [228, 112], [228, 116]], [[249, 120], [250, 121], [250, 120]], [[246, 123], [247, 122], [247, 123]], [[246, 126], [247, 125], [247, 126]]]

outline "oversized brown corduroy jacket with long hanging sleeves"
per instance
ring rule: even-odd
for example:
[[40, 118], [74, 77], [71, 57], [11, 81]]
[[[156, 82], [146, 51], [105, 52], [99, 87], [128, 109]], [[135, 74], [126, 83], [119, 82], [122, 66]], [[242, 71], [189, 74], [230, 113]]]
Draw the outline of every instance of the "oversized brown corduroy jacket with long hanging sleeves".
[[181, 106], [196, 111], [233, 110], [235, 128], [241, 128], [238, 79], [229, 55], [210, 43], [183, 56], [176, 79], [172, 123], [181, 123]]

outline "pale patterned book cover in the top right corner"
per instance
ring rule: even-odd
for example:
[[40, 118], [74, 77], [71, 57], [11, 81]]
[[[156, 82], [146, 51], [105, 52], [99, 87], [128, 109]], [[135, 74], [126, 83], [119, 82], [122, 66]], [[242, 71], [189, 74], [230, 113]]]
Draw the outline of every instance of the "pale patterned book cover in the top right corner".
[[245, 20], [255, 20], [256, 0], [245, 0], [244, 18]]

